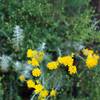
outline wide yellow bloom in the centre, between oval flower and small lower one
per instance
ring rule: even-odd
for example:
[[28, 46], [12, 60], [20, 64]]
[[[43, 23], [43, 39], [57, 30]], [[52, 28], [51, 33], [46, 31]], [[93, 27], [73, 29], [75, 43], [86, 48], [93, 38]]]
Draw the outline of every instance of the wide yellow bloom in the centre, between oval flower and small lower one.
[[65, 66], [72, 66], [73, 65], [73, 58], [72, 56], [63, 56], [63, 57], [58, 57], [58, 62], [60, 64], [63, 64]]

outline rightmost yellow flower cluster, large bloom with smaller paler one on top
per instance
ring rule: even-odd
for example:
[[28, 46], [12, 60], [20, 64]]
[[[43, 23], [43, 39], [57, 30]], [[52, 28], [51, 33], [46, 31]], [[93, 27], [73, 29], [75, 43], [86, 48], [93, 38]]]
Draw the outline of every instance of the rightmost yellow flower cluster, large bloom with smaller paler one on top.
[[83, 54], [87, 56], [86, 66], [89, 69], [94, 68], [98, 64], [99, 56], [93, 50], [83, 49]]

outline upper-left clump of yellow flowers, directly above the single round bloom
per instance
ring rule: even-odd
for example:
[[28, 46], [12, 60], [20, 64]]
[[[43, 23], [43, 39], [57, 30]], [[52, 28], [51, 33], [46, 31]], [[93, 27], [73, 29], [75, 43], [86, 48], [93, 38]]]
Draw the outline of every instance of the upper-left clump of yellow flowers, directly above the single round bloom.
[[39, 66], [39, 62], [43, 60], [44, 52], [28, 49], [27, 57], [31, 60], [28, 60], [28, 64], [32, 64], [33, 66]]

